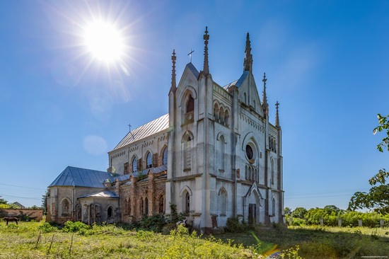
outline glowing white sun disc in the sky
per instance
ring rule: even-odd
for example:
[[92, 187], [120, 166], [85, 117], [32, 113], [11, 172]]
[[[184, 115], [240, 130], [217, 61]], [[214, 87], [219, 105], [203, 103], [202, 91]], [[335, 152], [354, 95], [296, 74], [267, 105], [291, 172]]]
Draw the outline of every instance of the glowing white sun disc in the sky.
[[95, 59], [115, 62], [124, 55], [124, 40], [115, 25], [93, 21], [84, 28], [84, 45]]

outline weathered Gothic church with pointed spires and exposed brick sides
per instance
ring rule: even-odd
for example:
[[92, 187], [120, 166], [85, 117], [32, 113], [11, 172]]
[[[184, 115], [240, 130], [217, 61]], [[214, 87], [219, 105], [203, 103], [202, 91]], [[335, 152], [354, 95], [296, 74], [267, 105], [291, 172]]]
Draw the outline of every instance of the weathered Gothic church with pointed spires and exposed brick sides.
[[229, 217], [284, 222], [279, 103], [273, 124], [249, 34], [242, 75], [226, 86], [212, 79], [208, 42], [206, 28], [202, 70], [187, 64], [178, 84], [173, 50], [169, 113], [130, 131], [108, 152], [107, 172], [68, 166], [53, 181], [47, 220], [130, 223], [176, 205], [204, 233]]

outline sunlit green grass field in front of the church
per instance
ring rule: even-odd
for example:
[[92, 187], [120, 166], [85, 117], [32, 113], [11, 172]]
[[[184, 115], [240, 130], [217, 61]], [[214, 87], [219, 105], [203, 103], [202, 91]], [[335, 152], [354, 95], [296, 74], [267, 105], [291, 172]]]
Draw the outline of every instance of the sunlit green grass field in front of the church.
[[[270, 227], [215, 237], [105, 225], [76, 233], [43, 222], [0, 221], [0, 258], [361, 258], [389, 255], [389, 229]], [[298, 249], [297, 249], [298, 246]], [[286, 251], [287, 249], [291, 249]]]

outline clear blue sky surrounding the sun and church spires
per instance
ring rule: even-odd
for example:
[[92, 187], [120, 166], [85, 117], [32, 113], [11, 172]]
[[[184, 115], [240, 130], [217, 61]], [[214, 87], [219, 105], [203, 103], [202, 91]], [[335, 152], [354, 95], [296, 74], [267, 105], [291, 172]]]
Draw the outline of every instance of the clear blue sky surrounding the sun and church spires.
[[[168, 113], [173, 48], [177, 75], [209, 69], [225, 85], [243, 72], [250, 33], [253, 74], [270, 118], [280, 104], [286, 207], [347, 208], [389, 168], [376, 151], [387, 115], [389, 1], [0, 1], [0, 196], [40, 205], [66, 166], [105, 171], [127, 134]], [[124, 35], [120, 62], [81, 46], [95, 18]]]

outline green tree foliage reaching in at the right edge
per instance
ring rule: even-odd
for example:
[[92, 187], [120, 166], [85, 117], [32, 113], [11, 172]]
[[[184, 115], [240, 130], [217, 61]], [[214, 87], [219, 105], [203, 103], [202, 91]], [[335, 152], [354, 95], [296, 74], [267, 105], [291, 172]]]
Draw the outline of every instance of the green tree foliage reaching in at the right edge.
[[[373, 134], [377, 132], [385, 132], [385, 137], [382, 142], [377, 145], [380, 152], [383, 150], [389, 151], [389, 115], [387, 117], [378, 114], [378, 126], [373, 130]], [[349, 202], [349, 210], [355, 209], [373, 209], [381, 214], [389, 214], [389, 185], [386, 183], [386, 178], [389, 176], [389, 171], [381, 169], [368, 182], [373, 187], [366, 192], [355, 192]], [[379, 184], [379, 185], [378, 185]]]

